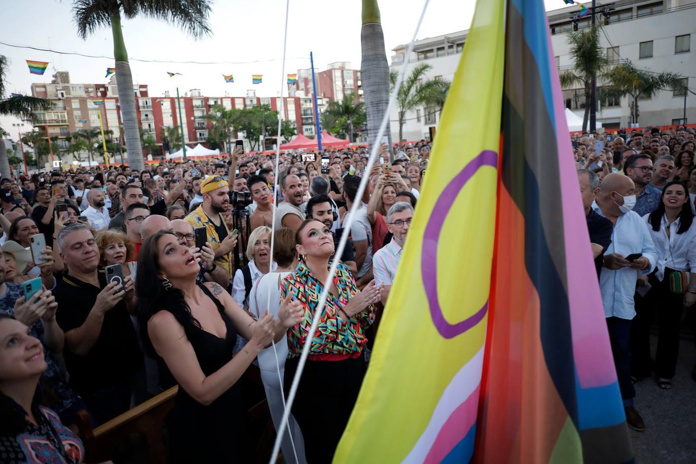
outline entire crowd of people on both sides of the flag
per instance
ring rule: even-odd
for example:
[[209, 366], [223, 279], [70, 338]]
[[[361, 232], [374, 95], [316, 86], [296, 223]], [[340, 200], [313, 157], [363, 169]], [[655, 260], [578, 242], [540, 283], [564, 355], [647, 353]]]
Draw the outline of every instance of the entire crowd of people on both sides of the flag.
[[[683, 308], [696, 301], [694, 130], [572, 141], [626, 418], [640, 431], [633, 382], [655, 371], [670, 388]], [[275, 155], [240, 150], [140, 172], [1, 179], [0, 455], [34, 462], [40, 444], [56, 462], [81, 462], [70, 428], [77, 411], [97, 426], [178, 385], [167, 421], [172, 460], [224, 462], [232, 449], [245, 459], [253, 438], [240, 383], [258, 366], [270, 419], [290, 431], [285, 460], [329, 461], [370, 360], [430, 148], [396, 146], [390, 161], [383, 145], [371, 171], [364, 148], [282, 153], [277, 189]], [[40, 286], [29, 299], [27, 283]]]

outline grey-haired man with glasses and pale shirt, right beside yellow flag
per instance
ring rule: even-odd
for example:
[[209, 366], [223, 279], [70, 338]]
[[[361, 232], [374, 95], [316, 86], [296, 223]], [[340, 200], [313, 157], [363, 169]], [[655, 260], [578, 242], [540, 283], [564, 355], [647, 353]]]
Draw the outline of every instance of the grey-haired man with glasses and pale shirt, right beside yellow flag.
[[381, 247], [372, 257], [372, 273], [374, 284], [382, 287], [382, 304], [387, 304], [389, 291], [396, 277], [396, 270], [401, 261], [406, 234], [411, 228], [413, 206], [406, 201], [397, 201], [387, 212], [387, 226], [393, 233], [391, 241]]

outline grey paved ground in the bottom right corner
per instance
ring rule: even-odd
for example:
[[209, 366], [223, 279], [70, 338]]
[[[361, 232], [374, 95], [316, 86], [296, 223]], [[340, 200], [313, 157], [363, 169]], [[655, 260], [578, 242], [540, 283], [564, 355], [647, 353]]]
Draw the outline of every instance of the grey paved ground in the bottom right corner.
[[[653, 355], [656, 346], [653, 336]], [[693, 336], [683, 331], [672, 389], [660, 389], [656, 378], [635, 384], [635, 409], [646, 426], [644, 432], [629, 429], [636, 462], [696, 463], [696, 382], [691, 378], [695, 363]]]

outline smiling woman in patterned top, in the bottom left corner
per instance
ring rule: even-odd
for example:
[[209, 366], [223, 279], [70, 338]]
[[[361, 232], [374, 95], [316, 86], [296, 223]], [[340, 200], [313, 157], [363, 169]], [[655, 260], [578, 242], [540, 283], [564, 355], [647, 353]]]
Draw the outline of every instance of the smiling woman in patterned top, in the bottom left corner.
[[29, 327], [0, 314], [0, 456], [2, 462], [81, 463], [82, 442], [58, 415], [35, 401], [46, 370], [43, 347]]

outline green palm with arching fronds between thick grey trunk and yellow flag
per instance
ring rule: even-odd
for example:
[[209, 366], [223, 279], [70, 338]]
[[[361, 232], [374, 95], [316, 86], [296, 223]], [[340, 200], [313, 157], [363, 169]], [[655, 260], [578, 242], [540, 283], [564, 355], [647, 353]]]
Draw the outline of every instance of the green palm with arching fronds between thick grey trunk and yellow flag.
[[[404, 121], [406, 121], [406, 113], [412, 111], [420, 105], [438, 105], [442, 107], [447, 98], [447, 92], [450, 88], [449, 82], [441, 77], [434, 77], [423, 82], [425, 75], [432, 66], [421, 63], [411, 70], [411, 74], [404, 79], [397, 95], [397, 104], [399, 105], [399, 140], [404, 139]], [[393, 71], [389, 75], [391, 86], [395, 86], [398, 73]]]

